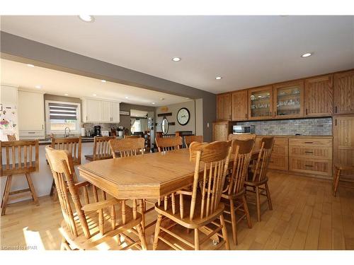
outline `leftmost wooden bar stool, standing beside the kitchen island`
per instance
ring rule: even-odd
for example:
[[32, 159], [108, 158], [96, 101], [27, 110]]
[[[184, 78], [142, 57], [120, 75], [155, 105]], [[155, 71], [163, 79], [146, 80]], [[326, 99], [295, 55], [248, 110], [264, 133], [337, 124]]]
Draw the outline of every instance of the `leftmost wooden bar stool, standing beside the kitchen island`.
[[[4, 155], [3, 155], [4, 153]], [[3, 161], [4, 156], [4, 161]], [[33, 201], [39, 205], [30, 173], [39, 170], [39, 143], [35, 141], [0, 141], [0, 176], [6, 176], [4, 195], [1, 200], [1, 216], [5, 215], [8, 197], [13, 194], [30, 192]], [[28, 189], [11, 192], [14, 175], [25, 175]]]

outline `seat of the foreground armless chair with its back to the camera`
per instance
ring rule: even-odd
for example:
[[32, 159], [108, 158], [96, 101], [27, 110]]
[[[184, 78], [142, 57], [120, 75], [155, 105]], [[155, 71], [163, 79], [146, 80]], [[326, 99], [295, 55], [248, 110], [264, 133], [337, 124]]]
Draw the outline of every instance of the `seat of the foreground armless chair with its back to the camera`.
[[[200, 218], [200, 211], [201, 211], [201, 198], [197, 198], [195, 202], [195, 211], [194, 211], [194, 218], [193, 220], [190, 220], [189, 218], [189, 209], [190, 209], [190, 196], [184, 196], [183, 197], [183, 208], [184, 208], [184, 217], [181, 218], [181, 214], [179, 211], [179, 198], [176, 196], [176, 213], [173, 214], [172, 212], [172, 207], [171, 207], [171, 201], [169, 201], [170, 205], [167, 210], [164, 210], [164, 203], [161, 203], [161, 206], [158, 206], [158, 204], [155, 204], [155, 210], [157, 213], [160, 213], [163, 216], [166, 216], [167, 218], [175, 221], [179, 225], [183, 225], [185, 228], [200, 228], [204, 225], [207, 225], [208, 223], [212, 222], [212, 220], [215, 220], [216, 218], [219, 218], [219, 216], [222, 215], [224, 211], [224, 204], [220, 203], [219, 206], [217, 207], [216, 211], [212, 213], [210, 216]], [[205, 216], [205, 212], [204, 212]]]

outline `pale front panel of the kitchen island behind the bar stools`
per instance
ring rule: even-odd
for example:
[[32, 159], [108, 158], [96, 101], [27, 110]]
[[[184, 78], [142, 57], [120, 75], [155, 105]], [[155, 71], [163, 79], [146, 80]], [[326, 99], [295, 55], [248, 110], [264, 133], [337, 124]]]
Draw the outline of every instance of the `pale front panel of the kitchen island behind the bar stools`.
[[[45, 196], [50, 194], [50, 188], [52, 187], [52, 172], [50, 172], [50, 167], [47, 165], [47, 161], [45, 160], [45, 145], [40, 146], [40, 151], [39, 151], [39, 160], [40, 160], [40, 170], [39, 172], [33, 172], [31, 173], [31, 177], [33, 180], [33, 185], [35, 186], [35, 192], [37, 193], [37, 196]], [[81, 147], [81, 164], [88, 163], [85, 159], [85, 155], [92, 155], [93, 153], [93, 143], [82, 143]], [[3, 152], [3, 158], [4, 158], [4, 152]], [[84, 180], [83, 178], [79, 177], [79, 170], [77, 170], [77, 167], [75, 167], [76, 170], [76, 175], [78, 176], [79, 181]], [[0, 179], [0, 195], [1, 198], [4, 194], [4, 189], [5, 189], [5, 182], [6, 182], [6, 177], [1, 177]], [[18, 189], [27, 189], [28, 184], [27, 181], [25, 180], [25, 175], [13, 175], [12, 177], [12, 183], [11, 183], [11, 192], [16, 191]], [[11, 199], [12, 198], [12, 199]], [[30, 192], [27, 194], [16, 194], [16, 195], [10, 195], [8, 202], [13, 203], [16, 201], [23, 201], [26, 199], [30, 199]]]

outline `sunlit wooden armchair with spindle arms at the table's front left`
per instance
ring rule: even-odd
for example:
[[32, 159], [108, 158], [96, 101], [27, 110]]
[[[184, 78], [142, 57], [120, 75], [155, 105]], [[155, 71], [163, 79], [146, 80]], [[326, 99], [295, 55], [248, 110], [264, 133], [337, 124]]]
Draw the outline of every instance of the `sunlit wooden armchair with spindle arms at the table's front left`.
[[[137, 208], [127, 206], [124, 200], [115, 198], [98, 201], [94, 185], [95, 202], [81, 204], [79, 188], [89, 182], [74, 183], [72, 156], [68, 151], [45, 148], [50, 163], [55, 186], [62, 208], [62, 221], [59, 232], [62, 235], [61, 249], [147, 249], [141, 227], [142, 216]], [[74, 207], [72, 206], [74, 204]], [[132, 240], [127, 235], [131, 231], [138, 237]], [[120, 242], [121, 236], [125, 242]], [[124, 245], [125, 243], [126, 245]]]

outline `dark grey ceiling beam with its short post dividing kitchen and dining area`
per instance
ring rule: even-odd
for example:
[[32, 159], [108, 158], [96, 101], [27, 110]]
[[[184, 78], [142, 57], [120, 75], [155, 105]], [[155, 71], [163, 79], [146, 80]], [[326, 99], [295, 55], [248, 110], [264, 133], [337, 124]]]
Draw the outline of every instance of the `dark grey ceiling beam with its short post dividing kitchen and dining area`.
[[[3, 31], [1, 31], [0, 39], [1, 57], [4, 59], [193, 99], [202, 98], [203, 134], [205, 141], [212, 140], [211, 124], [216, 119], [215, 94], [114, 64], [108, 64], [105, 61], [85, 57], [64, 49], [4, 33]], [[207, 124], [210, 124], [210, 126], [207, 127]]]

